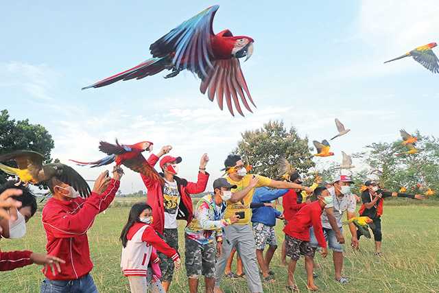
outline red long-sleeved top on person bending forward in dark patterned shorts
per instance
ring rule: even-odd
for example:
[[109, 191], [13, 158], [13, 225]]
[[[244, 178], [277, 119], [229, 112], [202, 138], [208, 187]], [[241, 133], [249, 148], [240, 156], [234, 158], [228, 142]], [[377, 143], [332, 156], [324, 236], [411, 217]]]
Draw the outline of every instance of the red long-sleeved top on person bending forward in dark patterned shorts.
[[318, 200], [306, 204], [298, 213], [288, 222], [287, 226], [283, 228], [285, 234], [299, 240], [309, 241], [309, 228], [313, 226], [314, 234], [316, 235], [318, 245], [322, 248], [327, 247], [327, 242], [324, 239], [322, 220], [323, 208], [320, 207]]

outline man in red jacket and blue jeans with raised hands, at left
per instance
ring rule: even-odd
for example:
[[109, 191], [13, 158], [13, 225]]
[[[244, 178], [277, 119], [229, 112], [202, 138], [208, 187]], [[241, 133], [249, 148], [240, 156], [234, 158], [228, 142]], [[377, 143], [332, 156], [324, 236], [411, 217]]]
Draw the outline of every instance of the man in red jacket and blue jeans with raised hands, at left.
[[47, 237], [47, 254], [64, 259], [61, 272], [54, 275], [51, 270], [44, 272], [46, 279], [41, 284], [41, 293], [47, 292], [97, 292], [88, 248], [87, 231], [100, 212], [104, 211], [115, 198], [119, 189], [119, 179], [123, 171], [113, 169], [113, 178], [108, 171], [95, 181], [89, 198], [80, 198], [73, 187], [56, 177], [49, 180], [53, 197], [47, 200], [43, 209], [43, 226]]

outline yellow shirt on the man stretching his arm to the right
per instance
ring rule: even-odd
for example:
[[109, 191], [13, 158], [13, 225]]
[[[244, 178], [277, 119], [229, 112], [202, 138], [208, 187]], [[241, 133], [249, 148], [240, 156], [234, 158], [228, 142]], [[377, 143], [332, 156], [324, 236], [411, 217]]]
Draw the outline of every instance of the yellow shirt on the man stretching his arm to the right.
[[[227, 176], [226, 179], [228, 183], [237, 186], [236, 189], [232, 189], [232, 192], [237, 192], [248, 187], [250, 180], [252, 179], [252, 176], [253, 176], [252, 174], [247, 174], [240, 181], [233, 181], [232, 179], [230, 179], [229, 176]], [[259, 176], [259, 175], [255, 175], [255, 176], [258, 177], [258, 183], [256, 187], [268, 186], [272, 181], [270, 178], [264, 176]], [[238, 211], [244, 211], [244, 218], [239, 219], [238, 222], [236, 222], [235, 224], [241, 224], [241, 225], [248, 224], [250, 222], [250, 219], [252, 218], [252, 209], [250, 209], [250, 203], [253, 200], [253, 193], [254, 193], [254, 188], [250, 189], [248, 194], [244, 196], [244, 198], [240, 202], [233, 203], [230, 202], [230, 200], [228, 200], [226, 211], [224, 213], [224, 219], [230, 218], [232, 215], [235, 215], [235, 213]]]

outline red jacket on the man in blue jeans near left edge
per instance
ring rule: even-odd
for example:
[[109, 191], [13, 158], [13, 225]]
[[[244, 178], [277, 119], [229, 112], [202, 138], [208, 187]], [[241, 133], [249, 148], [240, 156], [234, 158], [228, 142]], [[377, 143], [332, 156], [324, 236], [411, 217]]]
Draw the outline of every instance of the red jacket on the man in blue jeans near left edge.
[[47, 200], [43, 209], [43, 226], [47, 237], [47, 254], [56, 255], [66, 263], [60, 263], [61, 272], [54, 276], [47, 270], [49, 280], [75, 280], [88, 274], [93, 268], [88, 248], [87, 231], [98, 213], [104, 211], [115, 198], [119, 180], [110, 180], [102, 194], [91, 193], [89, 198], [73, 198], [64, 201]]

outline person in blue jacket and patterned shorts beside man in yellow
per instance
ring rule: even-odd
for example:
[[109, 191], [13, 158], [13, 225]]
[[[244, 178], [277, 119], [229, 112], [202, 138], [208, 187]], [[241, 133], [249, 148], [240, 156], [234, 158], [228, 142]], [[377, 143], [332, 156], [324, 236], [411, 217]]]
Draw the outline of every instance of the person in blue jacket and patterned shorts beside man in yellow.
[[[283, 219], [283, 214], [275, 209], [272, 200], [280, 198], [289, 189], [271, 189], [269, 187], [259, 187], [255, 189], [253, 200], [250, 204], [252, 208], [252, 226], [254, 240], [256, 242], [256, 257], [259, 268], [262, 272], [263, 280], [268, 283], [274, 281], [274, 272], [270, 270], [270, 262], [277, 248], [274, 226], [276, 218]], [[265, 246], [268, 250], [263, 255]]]

